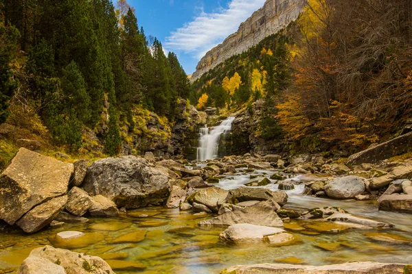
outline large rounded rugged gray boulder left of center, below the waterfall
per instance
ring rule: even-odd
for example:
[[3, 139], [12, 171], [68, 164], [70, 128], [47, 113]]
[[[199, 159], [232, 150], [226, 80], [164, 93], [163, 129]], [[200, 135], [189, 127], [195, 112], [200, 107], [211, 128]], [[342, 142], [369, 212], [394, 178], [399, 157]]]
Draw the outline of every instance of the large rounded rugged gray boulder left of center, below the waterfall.
[[84, 190], [103, 195], [127, 209], [160, 205], [168, 199], [169, 177], [143, 158], [124, 156], [98, 160], [89, 166]]

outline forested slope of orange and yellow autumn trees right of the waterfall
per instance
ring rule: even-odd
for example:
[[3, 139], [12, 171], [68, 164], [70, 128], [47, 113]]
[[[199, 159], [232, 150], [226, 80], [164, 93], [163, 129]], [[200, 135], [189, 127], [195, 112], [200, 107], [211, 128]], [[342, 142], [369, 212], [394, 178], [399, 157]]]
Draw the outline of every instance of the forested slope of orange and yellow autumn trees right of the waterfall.
[[393, 138], [412, 113], [411, 12], [405, 0], [310, 0], [295, 23], [203, 75], [192, 101], [247, 107], [249, 141], [286, 151]]

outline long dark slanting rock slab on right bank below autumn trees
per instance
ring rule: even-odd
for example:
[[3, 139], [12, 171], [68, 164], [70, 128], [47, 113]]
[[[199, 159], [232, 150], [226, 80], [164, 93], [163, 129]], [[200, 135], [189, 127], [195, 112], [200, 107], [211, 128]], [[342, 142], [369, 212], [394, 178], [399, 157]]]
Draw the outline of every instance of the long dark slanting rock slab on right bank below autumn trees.
[[351, 155], [349, 164], [376, 163], [412, 151], [412, 132]]

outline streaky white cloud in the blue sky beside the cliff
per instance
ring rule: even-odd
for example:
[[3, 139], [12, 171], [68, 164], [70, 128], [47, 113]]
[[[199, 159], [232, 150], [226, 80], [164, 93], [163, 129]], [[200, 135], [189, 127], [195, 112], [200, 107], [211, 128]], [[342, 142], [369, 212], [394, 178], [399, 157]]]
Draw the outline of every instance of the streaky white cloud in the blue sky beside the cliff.
[[262, 8], [265, 0], [231, 0], [227, 8], [205, 13], [203, 9], [193, 21], [172, 32], [166, 38], [165, 47], [172, 51], [192, 53], [196, 58], [225, 40], [238, 30], [255, 10]]

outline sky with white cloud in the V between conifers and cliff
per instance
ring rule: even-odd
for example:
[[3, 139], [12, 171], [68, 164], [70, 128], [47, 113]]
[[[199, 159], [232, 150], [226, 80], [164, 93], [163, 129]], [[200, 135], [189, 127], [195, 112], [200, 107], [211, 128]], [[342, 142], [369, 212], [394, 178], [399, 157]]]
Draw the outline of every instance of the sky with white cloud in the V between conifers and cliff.
[[128, 0], [139, 27], [174, 51], [187, 74], [212, 47], [236, 32], [265, 0]]

